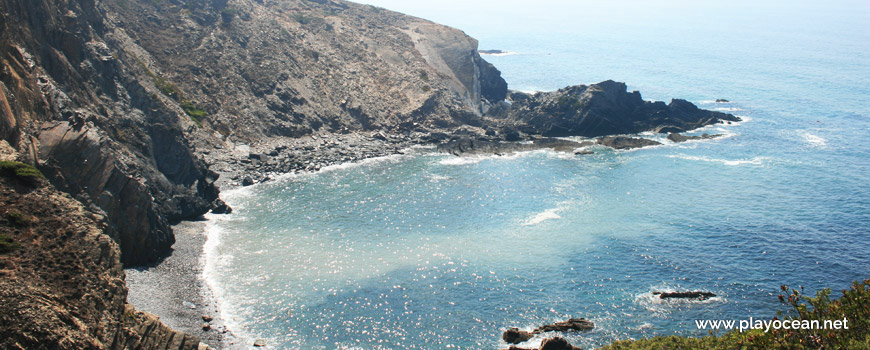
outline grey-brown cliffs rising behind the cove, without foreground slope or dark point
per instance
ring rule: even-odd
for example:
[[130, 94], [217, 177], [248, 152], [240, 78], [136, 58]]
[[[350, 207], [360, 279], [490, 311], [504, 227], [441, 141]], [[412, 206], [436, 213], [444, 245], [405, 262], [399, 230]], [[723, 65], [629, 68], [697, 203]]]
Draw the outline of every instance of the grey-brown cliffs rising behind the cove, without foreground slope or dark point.
[[340, 1], [0, 0], [0, 139], [108, 218], [126, 264], [219, 206], [203, 154], [480, 125], [507, 84], [459, 30]]

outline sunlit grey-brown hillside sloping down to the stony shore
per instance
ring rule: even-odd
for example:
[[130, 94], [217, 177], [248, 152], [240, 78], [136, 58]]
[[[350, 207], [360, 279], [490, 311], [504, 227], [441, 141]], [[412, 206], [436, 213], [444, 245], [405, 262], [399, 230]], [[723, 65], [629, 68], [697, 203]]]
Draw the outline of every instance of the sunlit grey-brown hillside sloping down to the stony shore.
[[125, 54], [205, 111], [204, 125], [236, 140], [458, 126], [507, 92], [473, 38], [372, 6], [107, 0], [104, 7], [119, 37], [142, 48]]

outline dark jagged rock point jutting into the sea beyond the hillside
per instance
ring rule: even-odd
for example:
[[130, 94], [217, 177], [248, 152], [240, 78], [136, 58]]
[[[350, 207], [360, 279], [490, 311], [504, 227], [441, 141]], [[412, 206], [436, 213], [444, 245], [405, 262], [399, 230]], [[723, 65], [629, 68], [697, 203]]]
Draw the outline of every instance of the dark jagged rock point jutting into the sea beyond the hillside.
[[553, 137], [682, 132], [740, 120], [680, 99], [670, 104], [644, 101], [639, 92], [627, 92], [624, 83], [611, 80], [534, 95], [513, 92], [510, 99], [510, 108], [493, 118], [514, 124], [528, 134]]

